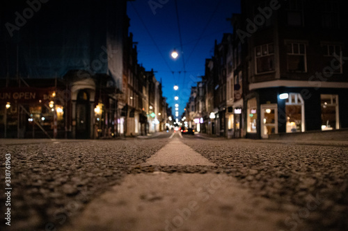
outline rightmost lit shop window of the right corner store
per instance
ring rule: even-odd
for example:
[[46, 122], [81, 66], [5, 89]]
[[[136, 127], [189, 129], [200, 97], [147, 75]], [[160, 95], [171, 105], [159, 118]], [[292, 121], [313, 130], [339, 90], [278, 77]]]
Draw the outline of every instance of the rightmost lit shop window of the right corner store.
[[322, 105], [322, 130], [339, 129], [338, 95], [320, 95]]

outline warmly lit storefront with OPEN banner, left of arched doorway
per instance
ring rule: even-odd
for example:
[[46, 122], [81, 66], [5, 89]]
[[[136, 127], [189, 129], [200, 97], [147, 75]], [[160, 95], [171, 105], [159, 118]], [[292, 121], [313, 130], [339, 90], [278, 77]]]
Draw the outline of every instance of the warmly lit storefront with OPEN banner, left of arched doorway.
[[64, 92], [55, 87], [8, 87], [0, 92], [0, 137], [53, 138], [64, 132]]

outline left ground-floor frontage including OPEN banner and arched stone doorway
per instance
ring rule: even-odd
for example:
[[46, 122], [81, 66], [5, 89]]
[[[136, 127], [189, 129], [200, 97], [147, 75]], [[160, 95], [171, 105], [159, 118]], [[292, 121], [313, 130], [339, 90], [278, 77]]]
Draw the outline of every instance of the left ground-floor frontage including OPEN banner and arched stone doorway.
[[[1, 138], [116, 137], [120, 112], [115, 88], [106, 77], [73, 80], [27, 80], [0, 88]], [[58, 83], [57, 83], [58, 82]], [[96, 87], [95, 83], [100, 83]], [[54, 86], [54, 87], [52, 87]]]

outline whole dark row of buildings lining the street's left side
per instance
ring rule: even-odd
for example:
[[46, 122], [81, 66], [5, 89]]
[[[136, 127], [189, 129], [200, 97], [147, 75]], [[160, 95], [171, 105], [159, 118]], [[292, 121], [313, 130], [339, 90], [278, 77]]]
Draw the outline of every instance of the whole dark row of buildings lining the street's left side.
[[126, 0], [1, 5], [0, 137], [149, 132], [151, 71], [137, 62]]

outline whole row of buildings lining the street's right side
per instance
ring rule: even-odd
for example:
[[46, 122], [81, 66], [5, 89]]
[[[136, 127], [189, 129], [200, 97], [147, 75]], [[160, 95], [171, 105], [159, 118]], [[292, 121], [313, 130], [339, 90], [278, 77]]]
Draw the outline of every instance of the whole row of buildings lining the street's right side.
[[348, 128], [343, 3], [242, 0], [229, 19], [232, 33], [205, 62], [203, 107], [187, 107], [186, 115], [202, 117], [203, 132], [228, 138]]

